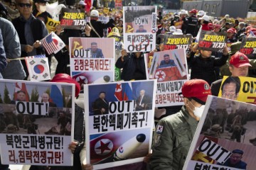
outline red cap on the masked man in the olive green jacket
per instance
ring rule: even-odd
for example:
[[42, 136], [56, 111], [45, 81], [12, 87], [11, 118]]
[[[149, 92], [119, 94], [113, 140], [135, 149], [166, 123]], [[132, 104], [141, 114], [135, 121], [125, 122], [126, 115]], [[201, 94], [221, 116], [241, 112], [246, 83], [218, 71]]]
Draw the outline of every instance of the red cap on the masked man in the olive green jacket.
[[186, 98], [193, 98], [198, 103], [206, 104], [207, 96], [211, 95], [210, 85], [203, 79], [191, 79], [186, 81], [181, 88]]

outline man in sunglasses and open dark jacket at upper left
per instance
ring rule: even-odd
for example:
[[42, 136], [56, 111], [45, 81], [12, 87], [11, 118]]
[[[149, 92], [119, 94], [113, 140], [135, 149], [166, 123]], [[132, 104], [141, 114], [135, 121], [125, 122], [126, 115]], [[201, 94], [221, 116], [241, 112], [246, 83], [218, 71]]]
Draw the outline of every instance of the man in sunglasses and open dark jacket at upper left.
[[[18, 38], [21, 42], [21, 57], [46, 54], [41, 46], [40, 40], [48, 35], [46, 25], [32, 14], [32, 0], [17, 0], [18, 11], [21, 16], [15, 18], [12, 22], [18, 33]], [[23, 69], [28, 77], [28, 69], [25, 60], [21, 60]]]

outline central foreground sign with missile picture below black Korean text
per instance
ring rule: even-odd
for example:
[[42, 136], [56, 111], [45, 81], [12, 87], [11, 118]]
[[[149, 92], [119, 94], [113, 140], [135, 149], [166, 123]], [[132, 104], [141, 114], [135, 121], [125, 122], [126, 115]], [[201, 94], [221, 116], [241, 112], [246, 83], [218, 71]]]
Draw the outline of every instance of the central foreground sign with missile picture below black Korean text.
[[151, 149], [156, 80], [87, 84], [84, 93], [87, 164], [142, 162]]

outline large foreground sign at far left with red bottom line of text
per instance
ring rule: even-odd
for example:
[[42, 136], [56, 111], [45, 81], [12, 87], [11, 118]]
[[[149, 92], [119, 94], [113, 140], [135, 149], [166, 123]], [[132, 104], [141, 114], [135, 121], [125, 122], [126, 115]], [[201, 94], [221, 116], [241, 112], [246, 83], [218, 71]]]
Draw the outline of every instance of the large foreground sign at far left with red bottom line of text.
[[71, 166], [74, 84], [0, 80], [2, 164]]

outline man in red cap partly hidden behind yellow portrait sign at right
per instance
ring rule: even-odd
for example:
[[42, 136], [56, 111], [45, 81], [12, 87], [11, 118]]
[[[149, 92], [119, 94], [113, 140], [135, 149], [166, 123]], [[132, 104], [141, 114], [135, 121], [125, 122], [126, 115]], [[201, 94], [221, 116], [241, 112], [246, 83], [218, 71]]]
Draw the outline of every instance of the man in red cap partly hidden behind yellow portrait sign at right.
[[[229, 64], [229, 69], [232, 77], [247, 77], [249, 67], [252, 67], [248, 57], [242, 54], [242, 52], [236, 52], [235, 55], [230, 58]], [[221, 82], [222, 79], [219, 79], [211, 84], [210, 90], [213, 96], [218, 96]]]

